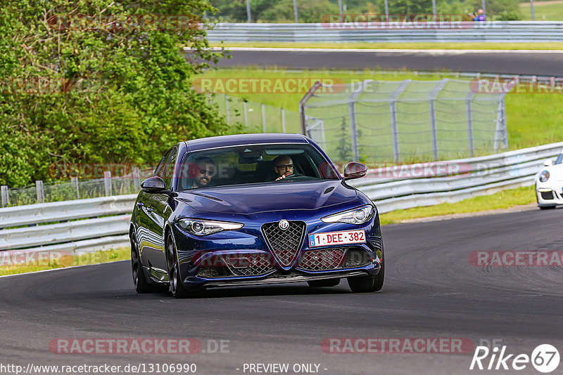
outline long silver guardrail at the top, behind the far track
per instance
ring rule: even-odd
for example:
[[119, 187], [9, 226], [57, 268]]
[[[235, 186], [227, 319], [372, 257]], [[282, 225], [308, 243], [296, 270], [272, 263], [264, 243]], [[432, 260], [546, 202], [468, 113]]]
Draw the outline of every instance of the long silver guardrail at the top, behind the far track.
[[[563, 41], [563, 21], [348, 23], [217, 23], [209, 41], [552, 42]], [[435, 25], [435, 24], [434, 24]]]

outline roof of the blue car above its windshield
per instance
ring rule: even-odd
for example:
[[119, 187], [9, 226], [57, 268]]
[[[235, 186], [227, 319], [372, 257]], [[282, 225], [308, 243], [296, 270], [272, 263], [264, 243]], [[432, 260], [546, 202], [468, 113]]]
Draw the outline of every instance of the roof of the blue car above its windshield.
[[188, 152], [206, 150], [216, 147], [260, 145], [267, 143], [309, 143], [303, 134], [293, 133], [256, 133], [234, 134], [232, 136], [218, 136], [186, 140]]

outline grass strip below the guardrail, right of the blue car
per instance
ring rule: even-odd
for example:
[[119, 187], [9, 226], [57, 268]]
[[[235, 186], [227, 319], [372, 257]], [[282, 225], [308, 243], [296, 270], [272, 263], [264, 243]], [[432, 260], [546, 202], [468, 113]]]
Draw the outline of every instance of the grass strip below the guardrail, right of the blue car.
[[[464, 199], [455, 203], [436, 204], [435, 206], [416, 207], [382, 213], [379, 216], [381, 224], [400, 223], [413, 218], [426, 218], [431, 216], [449, 215], [451, 213], [470, 213], [493, 209], [508, 209], [536, 202], [533, 186], [517, 187], [516, 189], [503, 190], [493, 195], [481, 195]], [[375, 202], [377, 205], [377, 202]]]

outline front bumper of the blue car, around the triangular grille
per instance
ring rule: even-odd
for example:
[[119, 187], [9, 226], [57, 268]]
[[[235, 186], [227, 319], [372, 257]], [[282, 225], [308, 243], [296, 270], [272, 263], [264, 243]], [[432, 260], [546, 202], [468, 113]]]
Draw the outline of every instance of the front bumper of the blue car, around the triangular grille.
[[[341, 223], [317, 227], [308, 223], [307, 227], [307, 234], [350, 230]], [[381, 270], [383, 243], [379, 218], [358, 228], [366, 233], [367, 242], [362, 244], [308, 247], [305, 234], [290, 267], [278, 262], [262, 238], [259, 226], [243, 229], [247, 232], [220, 232], [194, 238], [180, 228], [173, 228], [179, 273], [186, 289], [376, 276]]]

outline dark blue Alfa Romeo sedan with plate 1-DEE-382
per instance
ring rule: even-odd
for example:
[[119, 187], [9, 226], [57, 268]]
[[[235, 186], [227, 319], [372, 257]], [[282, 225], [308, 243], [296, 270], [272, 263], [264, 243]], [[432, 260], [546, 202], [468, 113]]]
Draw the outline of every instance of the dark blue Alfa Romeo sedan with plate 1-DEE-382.
[[138, 293], [308, 282], [379, 291], [384, 249], [373, 202], [300, 134], [180, 142], [141, 183], [131, 218]]

